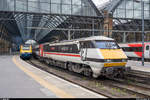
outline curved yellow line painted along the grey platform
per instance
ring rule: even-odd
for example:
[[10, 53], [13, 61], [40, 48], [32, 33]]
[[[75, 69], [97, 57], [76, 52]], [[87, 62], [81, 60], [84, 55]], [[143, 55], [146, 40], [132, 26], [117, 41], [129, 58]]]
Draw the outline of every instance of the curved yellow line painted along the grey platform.
[[[32, 73], [31, 71], [29, 71], [28, 69], [26, 69], [23, 65], [21, 65], [20, 63], [18, 63], [16, 61], [15, 56], [12, 58], [13, 62], [17, 65], [17, 67], [19, 67], [22, 71], [24, 71], [27, 75], [29, 75], [30, 77], [32, 77], [35, 81], [37, 81], [41, 86], [49, 89], [50, 91], [52, 91], [53, 93], [55, 93], [56, 96], [60, 97], [60, 98], [75, 98], [72, 95], [64, 92], [63, 90], [57, 88], [56, 86], [46, 82], [44, 79], [42, 79], [40, 76], [35, 75], [34, 73]], [[53, 80], [52, 80], [53, 81]], [[61, 85], [61, 84], [60, 84]]]

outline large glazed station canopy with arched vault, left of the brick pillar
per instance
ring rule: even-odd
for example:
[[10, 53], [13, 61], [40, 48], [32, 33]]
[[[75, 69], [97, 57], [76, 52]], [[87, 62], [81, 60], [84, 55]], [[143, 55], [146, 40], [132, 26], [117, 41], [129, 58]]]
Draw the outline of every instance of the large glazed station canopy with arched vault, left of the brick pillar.
[[43, 41], [60, 34], [55, 28], [80, 27], [77, 24], [92, 23], [86, 18], [98, 16], [101, 14], [91, 0], [0, 0], [0, 25], [23, 41]]

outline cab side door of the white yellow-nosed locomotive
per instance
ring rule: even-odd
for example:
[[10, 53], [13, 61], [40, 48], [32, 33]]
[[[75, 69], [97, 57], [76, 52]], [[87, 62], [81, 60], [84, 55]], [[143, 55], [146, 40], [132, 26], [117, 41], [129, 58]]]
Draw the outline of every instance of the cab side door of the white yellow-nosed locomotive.
[[87, 56], [87, 47], [85, 42], [81, 42], [80, 44], [80, 56], [82, 61], [86, 61], [86, 56]]

